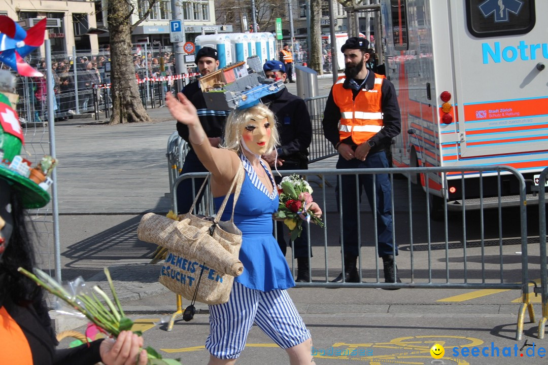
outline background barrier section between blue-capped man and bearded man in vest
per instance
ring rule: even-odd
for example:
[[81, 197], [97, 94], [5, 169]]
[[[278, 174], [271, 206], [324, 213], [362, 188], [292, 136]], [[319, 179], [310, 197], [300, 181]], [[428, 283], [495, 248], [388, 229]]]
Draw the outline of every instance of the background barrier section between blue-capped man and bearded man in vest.
[[326, 109], [327, 95], [305, 99], [306, 108], [312, 123], [312, 143], [309, 147], [309, 164], [337, 154], [333, 144], [323, 136], [323, 111]]

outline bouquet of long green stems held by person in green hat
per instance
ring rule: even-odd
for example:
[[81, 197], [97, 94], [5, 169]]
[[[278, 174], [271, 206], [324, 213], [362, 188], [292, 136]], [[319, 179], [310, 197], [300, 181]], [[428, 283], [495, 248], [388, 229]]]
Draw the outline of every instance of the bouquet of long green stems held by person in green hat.
[[[118, 337], [120, 332], [129, 331], [133, 327], [133, 321], [124, 315], [107, 268], [105, 268], [105, 275], [109, 280], [115, 303], [112, 303], [112, 300], [98, 286], [94, 286], [94, 292], [91, 293], [83, 290], [82, 288], [85, 285], [82, 278], [70, 282], [70, 289], [67, 290], [40, 269], [33, 270], [36, 275], [23, 268], [19, 268], [18, 271], [68, 304], [71, 309], [77, 311], [77, 313], [70, 312], [70, 314], [82, 314], [103, 333]], [[78, 288], [75, 289], [75, 287]], [[102, 300], [106, 305], [102, 303]], [[141, 331], [133, 331], [133, 333], [142, 334]], [[147, 347], [145, 350], [147, 352], [147, 364], [149, 365], [181, 365], [179, 360], [163, 359], [152, 347]]]

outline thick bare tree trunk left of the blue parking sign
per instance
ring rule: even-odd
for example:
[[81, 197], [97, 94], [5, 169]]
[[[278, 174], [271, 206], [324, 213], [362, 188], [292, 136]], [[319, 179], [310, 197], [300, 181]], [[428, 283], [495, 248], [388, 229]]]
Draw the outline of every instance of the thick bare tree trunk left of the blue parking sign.
[[142, 106], [132, 56], [133, 8], [127, 0], [108, 0], [112, 80], [112, 117], [110, 125], [151, 121]]

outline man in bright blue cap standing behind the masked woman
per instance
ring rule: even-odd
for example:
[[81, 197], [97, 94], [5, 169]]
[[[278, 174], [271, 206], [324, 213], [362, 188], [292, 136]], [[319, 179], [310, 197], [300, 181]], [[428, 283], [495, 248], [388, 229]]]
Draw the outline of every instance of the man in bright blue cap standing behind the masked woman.
[[[265, 71], [267, 78], [283, 80], [284, 82], [287, 78], [286, 68], [280, 61], [267, 61], [262, 69]], [[272, 168], [276, 166], [278, 170], [308, 169], [307, 156], [312, 141], [312, 124], [304, 100], [290, 94], [283, 87], [276, 94], [262, 97], [261, 101], [268, 105], [269, 109], [276, 115], [276, 128], [281, 143], [276, 151], [272, 151], [262, 156], [262, 158]], [[276, 176], [275, 179], [277, 184], [281, 182], [279, 176]], [[282, 222], [276, 222], [278, 245], [285, 256], [287, 243], [284, 239], [283, 225]], [[294, 241], [294, 254], [297, 259], [296, 282], [308, 282], [310, 280], [307, 236], [308, 230], [303, 227], [301, 236]]]

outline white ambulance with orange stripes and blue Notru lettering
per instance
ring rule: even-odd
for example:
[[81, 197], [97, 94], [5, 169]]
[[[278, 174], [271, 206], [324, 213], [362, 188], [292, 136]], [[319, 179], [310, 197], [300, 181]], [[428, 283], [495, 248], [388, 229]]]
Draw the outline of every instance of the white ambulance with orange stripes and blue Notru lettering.
[[[380, 11], [402, 113], [393, 165], [506, 165], [534, 184], [548, 166], [548, 1], [381, 0]], [[438, 206], [480, 208], [478, 173], [444, 175], [427, 177]], [[424, 174], [411, 178], [426, 190]], [[482, 182], [484, 208], [499, 189], [503, 206], [519, 204], [511, 175]]]

